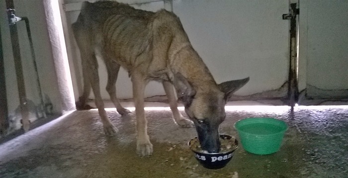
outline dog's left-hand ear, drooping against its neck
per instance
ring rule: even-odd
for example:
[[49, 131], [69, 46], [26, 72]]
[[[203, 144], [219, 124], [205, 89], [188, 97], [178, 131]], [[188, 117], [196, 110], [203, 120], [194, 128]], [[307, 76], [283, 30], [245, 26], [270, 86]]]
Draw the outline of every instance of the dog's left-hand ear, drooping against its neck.
[[192, 99], [196, 94], [196, 90], [193, 89], [191, 84], [180, 73], [174, 75], [173, 81], [174, 88], [176, 89], [177, 97], [182, 101], [185, 107], [191, 105]]

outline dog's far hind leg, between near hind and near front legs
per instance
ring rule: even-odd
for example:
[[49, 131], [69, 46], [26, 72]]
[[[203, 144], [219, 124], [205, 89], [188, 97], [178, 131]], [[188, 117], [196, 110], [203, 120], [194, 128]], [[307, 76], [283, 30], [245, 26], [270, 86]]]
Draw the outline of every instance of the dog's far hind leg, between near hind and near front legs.
[[116, 81], [117, 81], [117, 75], [120, 70], [120, 65], [112, 60], [105, 58], [105, 64], [107, 69], [107, 85], [106, 90], [110, 95], [110, 99], [115, 105], [117, 112], [121, 115], [125, 115], [129, 113], [130, 111], [120, 104], [120, 102], [117, 99], [116, 95]]

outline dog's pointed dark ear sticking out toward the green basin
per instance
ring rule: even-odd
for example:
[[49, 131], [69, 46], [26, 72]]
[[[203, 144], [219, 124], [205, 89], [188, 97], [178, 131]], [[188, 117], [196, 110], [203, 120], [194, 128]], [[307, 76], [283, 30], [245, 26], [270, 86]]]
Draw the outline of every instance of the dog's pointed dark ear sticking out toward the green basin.
[[249, 77], [245, 79], [241, 79], [241, 80], [224, 82], [219, 84], [218, 86], [220, 90], [225, 93], [225, 99], [228, 100], [235, 91], [242, 88], [248, 82], [249, 82]]

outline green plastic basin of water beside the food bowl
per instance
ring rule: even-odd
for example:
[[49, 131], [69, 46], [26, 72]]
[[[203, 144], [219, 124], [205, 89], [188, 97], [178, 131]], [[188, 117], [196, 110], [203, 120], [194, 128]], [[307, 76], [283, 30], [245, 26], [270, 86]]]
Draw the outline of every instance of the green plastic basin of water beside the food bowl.
[[279, 150], [287, 125], [269, 117], [250, 117], [235, 123], [243, 148], [253, 154], [268, 155]]

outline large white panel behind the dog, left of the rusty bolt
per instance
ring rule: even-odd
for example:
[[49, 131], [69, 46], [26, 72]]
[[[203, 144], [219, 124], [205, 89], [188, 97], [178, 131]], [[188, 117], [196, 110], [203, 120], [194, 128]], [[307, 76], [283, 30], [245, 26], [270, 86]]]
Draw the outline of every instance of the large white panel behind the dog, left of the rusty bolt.
[[[159, 1], [134, 7], [156, 11], [164, 6], [163, 1]], [[217, 83], [250, 77], [250, 82], [236, 92], [237, 95], [248, 95], [278, 89], [287, 80], [289, 23], [281, 18], [288, 11], [287, 0], [174, 0], [173, 9]], [[79, 11], [66, 14], [70, 25], [76, 21]], [[71, 49], [72, 53], [76, 53], [75, 47]], [[74, 58], [79, 56], [73, 55]], [[99, 64], [101, 94], [108, 99], [104, 90], [105, 67]], [[76, 71], [79, 72], [76, 76], [81, 76], [81, 71]], [[82, 93], [79, 79], [75, 83], [77, 86]], [[131, 82], [123, 70], [116, 88], [119, 98], [132, 98]], [[76, 93], [75, 98], [80, 93]], [[164, 94], [162, 85], [157, 82], [151, 82], [145, 91], [147, 97]]]

